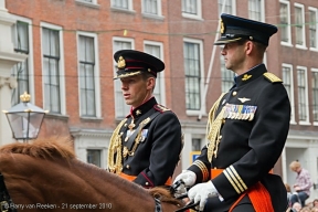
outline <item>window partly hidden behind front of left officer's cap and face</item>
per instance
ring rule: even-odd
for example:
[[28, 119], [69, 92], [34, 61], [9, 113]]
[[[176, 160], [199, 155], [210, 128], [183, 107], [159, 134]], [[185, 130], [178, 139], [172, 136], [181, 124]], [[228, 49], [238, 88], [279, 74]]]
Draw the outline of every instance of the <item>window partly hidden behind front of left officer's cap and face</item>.
[[[132, 39], [114, 38], [113, 39], [113, 54], [119, 50], [134, 50]], [[114, 75], [117, 72], [117, 64], [114, 62]], [[121, 92], [120, 80], [115, 80], [115, 115], [116, 118], [123, 118], [129, 114], [130, 106], [126, 105]]]

